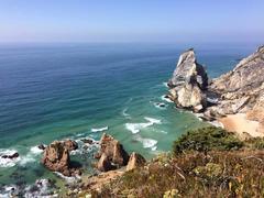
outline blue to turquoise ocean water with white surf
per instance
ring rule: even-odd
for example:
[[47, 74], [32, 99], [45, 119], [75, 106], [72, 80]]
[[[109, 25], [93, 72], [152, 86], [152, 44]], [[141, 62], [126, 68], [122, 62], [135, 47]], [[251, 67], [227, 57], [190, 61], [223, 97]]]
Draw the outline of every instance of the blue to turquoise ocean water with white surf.
[[[34, 146], [107, 132], [150, 158], [200, 122], [162, 99], [184, 46], [166, 44], [46, 44], [0, 46], [0, 184], [56, 178], [40, 165]], [[230, 70], [254, 47], [198, 47], [211, 77]], [[157, 102], [165, 108], [156, 107]], [[73, 156], [91, 172], [91, 153]]]

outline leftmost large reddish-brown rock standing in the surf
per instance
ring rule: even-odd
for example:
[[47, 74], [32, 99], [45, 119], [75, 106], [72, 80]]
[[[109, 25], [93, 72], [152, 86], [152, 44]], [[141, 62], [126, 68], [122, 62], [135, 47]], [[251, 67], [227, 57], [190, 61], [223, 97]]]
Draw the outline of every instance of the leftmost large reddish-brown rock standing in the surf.
[[73, 148], [72, 143], [69, 144], [69, 141], [55, 141], [51, 143], [44, 150], [41, 161], [42, 164], [46, 168], [53, 172], [59, 172], [65, 176], [79, 175], [80, 172], [78, 168], [72, 167], [70, 164], [69, 151]]

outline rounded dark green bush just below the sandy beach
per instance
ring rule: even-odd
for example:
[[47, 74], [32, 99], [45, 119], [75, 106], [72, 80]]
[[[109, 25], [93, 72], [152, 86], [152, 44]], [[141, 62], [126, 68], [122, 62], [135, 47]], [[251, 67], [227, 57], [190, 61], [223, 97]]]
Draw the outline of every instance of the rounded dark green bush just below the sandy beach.
[[208, 127], [188, 131], [174, 142], [173, 152], [175, 155], [184, 151], [207, 152], [211, 150], [229, 151], [243, 146], [238, 138], [221, 128]]

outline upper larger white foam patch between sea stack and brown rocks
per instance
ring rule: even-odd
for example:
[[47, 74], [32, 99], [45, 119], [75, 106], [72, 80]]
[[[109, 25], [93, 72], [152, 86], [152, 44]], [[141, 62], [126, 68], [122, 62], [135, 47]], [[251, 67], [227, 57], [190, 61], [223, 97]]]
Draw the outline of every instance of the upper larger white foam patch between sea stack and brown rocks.
[[143, 122], [143, 123], [125, 123], [125, 128], [131, 131], [132, 133], [139, 133], [142, 129], [151, 127], [153, 124], [161, 124], [162, 121], [154, 119], [154, 118], [150, 118], [150, 117], [145, 117], [145, 120], [147, 120], [148, 122]]

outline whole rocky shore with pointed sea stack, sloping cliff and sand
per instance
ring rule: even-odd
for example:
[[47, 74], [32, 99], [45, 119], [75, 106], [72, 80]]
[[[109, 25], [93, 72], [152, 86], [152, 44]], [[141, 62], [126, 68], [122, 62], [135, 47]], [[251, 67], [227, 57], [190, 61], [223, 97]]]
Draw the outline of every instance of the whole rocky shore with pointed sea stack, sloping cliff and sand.
[[[184, 52], [168, 81], [176, 107], [219, 121], [244, 139], [264, 135], [264, 46], [243, 58], [233, 70], [209, 79], [193, 48]], [[235, 117], [233, 117], [235, 116]], [[243, 131], [244, 130], [244, 131]]]

